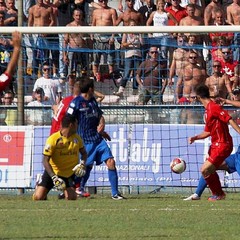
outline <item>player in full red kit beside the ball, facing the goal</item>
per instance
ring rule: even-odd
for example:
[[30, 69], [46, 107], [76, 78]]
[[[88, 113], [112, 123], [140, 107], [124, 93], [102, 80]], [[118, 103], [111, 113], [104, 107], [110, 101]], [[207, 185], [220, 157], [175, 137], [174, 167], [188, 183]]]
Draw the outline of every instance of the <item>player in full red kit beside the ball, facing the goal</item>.
[[189, 137], [188, 141], [192, 144], [196, 140], [211, 137], [209, 156], [201, 167], [201, 173], [213, 194], [208, 200], [221, 200], [225, 198], [225, 193], [216, 170], [233, 150], [228, 124], [239, 134], [240, 128], [226, 110], [210, 99], [209, 88], [206, 85], [198, 85], [195, 92], [205, 108], [205, 128], [202, 133]]

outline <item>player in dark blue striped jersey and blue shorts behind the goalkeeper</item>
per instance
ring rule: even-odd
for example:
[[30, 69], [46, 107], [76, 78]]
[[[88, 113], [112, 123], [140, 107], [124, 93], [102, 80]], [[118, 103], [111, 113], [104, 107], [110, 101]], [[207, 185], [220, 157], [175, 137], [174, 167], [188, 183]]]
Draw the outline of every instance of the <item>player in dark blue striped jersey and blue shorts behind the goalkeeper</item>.
[[88, 77], [80, 79], [80, 96], [73, 99], [67, 113], [78, 119], [78, 134], [83, 139], [88, 158], [86, 162], [86, 174], [81, 180], [80, 190], [84, 196], [84, 187], [90, 176], [94, 162], [100, 165], [106, 163], [108, 177], [111, 184], [112, 199], [122, 200], [123, 197], [118, 191], [118, 175], [115, 160], [106, 140], [111, 140], [104, 131], [105, 120], [102, 110], [94, 98], [94, 82]]

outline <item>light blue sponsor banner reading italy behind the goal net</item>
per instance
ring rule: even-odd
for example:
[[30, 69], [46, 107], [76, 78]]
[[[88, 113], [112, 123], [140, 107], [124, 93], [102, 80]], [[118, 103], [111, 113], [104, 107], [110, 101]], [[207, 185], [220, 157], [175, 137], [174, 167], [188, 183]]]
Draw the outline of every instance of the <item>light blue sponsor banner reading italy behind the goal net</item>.
[[[189, 145], [188, 137], [202, 132], [203, 128], [203, 125], [107, 125], [106, 131], [112, 138], [108, 144], [116, 160], [119, 185], [197, 186], [210, 138]], [[234, 130], [230, 130], [234, 139], [234, 152], [238, 147], [239, 137]], [[43, 171], [42, 151], [48, 135], [48, 127], [34, 129], [34, 181], [36, 175]], [[181, 157], [187, 163], [187, 169], [182, 174], [175, 174], [170, 170], [170, 162], [175, 157]], [[222, 186], [240, 186], [238, 174], [231, 174], [226, 178], [221, 171], [219, 175]], [[105, 164], [94, 166], [87, 185], [110, 185]]]

